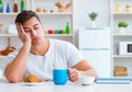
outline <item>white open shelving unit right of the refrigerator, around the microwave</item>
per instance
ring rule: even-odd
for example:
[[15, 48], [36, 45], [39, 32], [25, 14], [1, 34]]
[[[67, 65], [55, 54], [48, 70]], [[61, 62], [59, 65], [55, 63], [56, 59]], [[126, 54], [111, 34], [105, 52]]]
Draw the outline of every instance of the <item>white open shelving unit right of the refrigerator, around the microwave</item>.
[[[120, 55], [120, 43], [132, 42], [132, 0], [110, 0], [111, 1], [111, 27], [112, 27], [112, 64], [114, 67], [125, 67], [127, 74], [119, 77], [132, 77], [132, 55]], [[122, 33], [118, 26], [119, 22], [128, 23], [125, 32]], [[125, 47], [124, 47], [125, 49]], [[123, 72], [123, 71], [121, 71]], [[114, 76], [114, 69], [113, 69]]]

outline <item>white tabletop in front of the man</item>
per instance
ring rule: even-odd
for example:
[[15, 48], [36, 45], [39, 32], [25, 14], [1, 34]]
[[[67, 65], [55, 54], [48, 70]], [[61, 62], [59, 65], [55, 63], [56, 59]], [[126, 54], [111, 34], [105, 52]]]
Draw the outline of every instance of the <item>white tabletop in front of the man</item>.
[[28, 85], [24, 82], [9, 83], [0, 79], [0, 92], [131, 92], [132, 84], [91, 84], [67, 82], [65, 85], [55, 85], [52, 81], [42, 84]]

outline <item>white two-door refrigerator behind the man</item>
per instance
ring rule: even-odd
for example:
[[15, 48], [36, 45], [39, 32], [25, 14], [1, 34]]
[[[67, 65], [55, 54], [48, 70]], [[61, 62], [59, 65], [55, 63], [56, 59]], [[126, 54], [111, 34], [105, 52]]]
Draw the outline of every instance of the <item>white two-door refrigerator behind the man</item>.
[[80, 27], [79, 51], [101, 78], [111, 77], [111, 38], [109, 27]]

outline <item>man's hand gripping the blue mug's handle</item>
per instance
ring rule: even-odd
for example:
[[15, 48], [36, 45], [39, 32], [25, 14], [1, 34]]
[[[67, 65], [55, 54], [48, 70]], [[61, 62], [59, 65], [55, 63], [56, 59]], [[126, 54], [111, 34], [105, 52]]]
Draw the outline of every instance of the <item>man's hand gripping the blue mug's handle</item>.
[[78, 76], [79, 76], [79, 73], [78, 73], [78, 70], [77, 70], [77, 69], [72, 69], [72, 68], [69, 68], [69, 69], [68, 69], [68, 76], [69, 76], [69, 80], [70, 80], [72, 82], [78, 81]]

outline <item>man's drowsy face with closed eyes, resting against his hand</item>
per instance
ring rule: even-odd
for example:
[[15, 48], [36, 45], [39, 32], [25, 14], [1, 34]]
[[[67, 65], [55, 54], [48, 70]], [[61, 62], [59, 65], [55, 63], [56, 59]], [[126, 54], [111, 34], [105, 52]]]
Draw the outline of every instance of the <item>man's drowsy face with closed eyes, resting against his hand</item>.
[[32, 43], [36, 44], [42, 41], [43, 35], [43, 26], [40, 24], [36, 18], [31, 18], [24, 22], [23, 28], [28, 35], [30, 35]]

